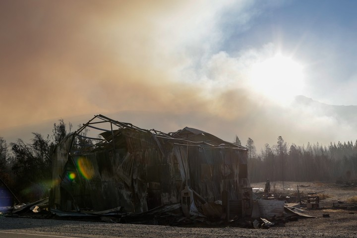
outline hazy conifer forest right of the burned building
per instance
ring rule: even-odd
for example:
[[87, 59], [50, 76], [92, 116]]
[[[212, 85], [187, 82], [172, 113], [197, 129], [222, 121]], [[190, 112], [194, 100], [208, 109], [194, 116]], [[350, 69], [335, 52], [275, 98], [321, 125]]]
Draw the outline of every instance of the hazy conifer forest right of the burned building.
[[[234, 143], [241, 145], [236, 136]], [[258, 154], [248, 138], [248, 173], [251, 182], [265, 181], [345, 181], [357, 179], [357, 140], [323, 146], [289, 145], [282, 136], [273, 146], [265, 144]]]

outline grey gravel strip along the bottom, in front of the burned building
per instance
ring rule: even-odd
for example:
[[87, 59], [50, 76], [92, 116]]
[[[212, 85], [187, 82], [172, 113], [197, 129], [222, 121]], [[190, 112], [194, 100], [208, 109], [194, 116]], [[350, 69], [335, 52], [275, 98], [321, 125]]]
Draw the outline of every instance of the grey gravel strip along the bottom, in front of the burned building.
[[[326, 212], [326, 211], [324, 211]], [[182, 228], [170, 226], [148, 226], [113, 224], [101, 222], [63, 221], [53, 219], [28, 219], [0, 217], [0, 231], [58, 235], [88, 238], [163, 238], [163, 237], [242, 237], [242, 238], [335, 238], [357, 237], [356, 214], [347, 211], [328, 211], [330, 218], [323, 218], [323, 211], [312, 212], [318, 216], [299, 219], [270, 229], [244, 229], [238, 227]], [[3, 236], [0, 233], [0, 237]]]

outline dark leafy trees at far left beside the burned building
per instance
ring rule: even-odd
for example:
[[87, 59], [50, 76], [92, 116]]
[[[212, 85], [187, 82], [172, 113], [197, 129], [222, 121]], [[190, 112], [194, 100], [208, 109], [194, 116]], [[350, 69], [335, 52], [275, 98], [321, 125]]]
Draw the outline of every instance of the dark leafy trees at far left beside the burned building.
[[17, 139], [7, 144], [0, 137], [0, 178], [21, 202], [48, 196], [52, 186], [52, 151], [71, 128], [71, 123], [61, 119], [54, 123], [51, 136], [34, 132], [30, 143]]

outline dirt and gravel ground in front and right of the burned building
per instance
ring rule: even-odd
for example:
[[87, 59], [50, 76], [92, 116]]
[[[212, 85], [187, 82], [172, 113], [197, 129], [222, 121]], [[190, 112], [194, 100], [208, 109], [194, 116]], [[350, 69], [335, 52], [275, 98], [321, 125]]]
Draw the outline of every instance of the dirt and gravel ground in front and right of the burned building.
[[[56, 235], [88, 238], [163, 238], [163, 237], [241, 237], [241, 238], [356, 238], [356, 204], [346, 200], [357, 196], [357, 187], [344, 183], [325, 182], [282, 182], [271, 181], [272, 192], [295, 194], [322, 192], [328, 197], [320, 201], [320, 209], [304, 210], [316, 218], [299, 218], [297, 221], [278, 223], [269, 229], [241, 228], [232, 225], [216, 227], [173, 227], [155, 225], [120, 224], [105, 222], [66, 221], [57, 219], [10, 218], [0, 216], [0, 237], [8, 232]], [[264, 183], [252, 183], [252, 187], [264, 187]], [[328, 214], [329, 217], [323, 217]]]

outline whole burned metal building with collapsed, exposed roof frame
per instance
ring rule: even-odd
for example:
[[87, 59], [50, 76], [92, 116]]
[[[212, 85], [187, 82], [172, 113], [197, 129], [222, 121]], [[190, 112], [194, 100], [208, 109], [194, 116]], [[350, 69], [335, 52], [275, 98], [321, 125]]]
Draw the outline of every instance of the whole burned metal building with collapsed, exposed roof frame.
[[170, 204], [190, 209], [222, 200], [223, 191], [240, 200], [250, 187], [242, 146], [194, 128], [163, 133], [102, 115], [68, 134], [52, 163], [50, 205], [61, 211], [138, 214]]

